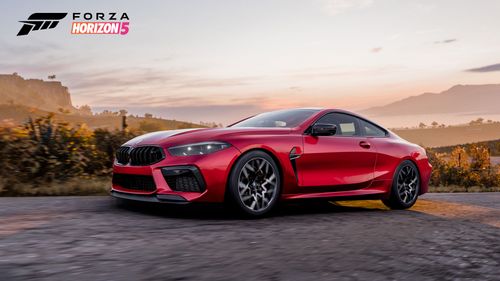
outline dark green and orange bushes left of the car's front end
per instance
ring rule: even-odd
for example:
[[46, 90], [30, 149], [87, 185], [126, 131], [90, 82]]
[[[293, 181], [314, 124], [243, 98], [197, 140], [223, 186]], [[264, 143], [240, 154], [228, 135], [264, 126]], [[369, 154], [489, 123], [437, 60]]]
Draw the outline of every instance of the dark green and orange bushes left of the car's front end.
[[16, 195], [19, 186], [36, 189], [75, 178], [109, 177], [115, 149], [134, 136], [55, 123], [52, 115], [0, 128], [0, 194]]

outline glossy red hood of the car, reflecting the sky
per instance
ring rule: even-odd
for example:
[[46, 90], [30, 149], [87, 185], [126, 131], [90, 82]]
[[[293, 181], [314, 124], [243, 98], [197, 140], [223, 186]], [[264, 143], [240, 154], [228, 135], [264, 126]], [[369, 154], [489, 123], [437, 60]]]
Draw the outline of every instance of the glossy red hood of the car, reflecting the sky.
[[273, 135], [289, 134], [290, 128], [199, 128], [168, 130], [148, 133], [135, 137], [124, 145], [142, 146], [142, 145], [160, 145], [175, 146], [188, 143], [197, 143], [204, 141], [230, 141], [230, 139], [239, 136], [248, 135]]

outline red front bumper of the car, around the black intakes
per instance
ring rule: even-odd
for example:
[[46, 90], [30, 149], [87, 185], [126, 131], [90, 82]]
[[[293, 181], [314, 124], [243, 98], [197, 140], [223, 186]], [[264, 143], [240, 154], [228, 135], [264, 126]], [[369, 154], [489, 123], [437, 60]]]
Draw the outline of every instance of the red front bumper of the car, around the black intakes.
[[[154, 181], [153, 188], [139, 189], [126, 184], [113, 183], [111, 195], [129, 200], [157, 203], [188, 203], [188, 202], [223, 202], [230, 168], [240, 152], [235, 147], [208, 155], [199, 156], [171, 156], [168, 151], [165, 159], [150, 166], [113, 165], [114, 174], [132, 176], [146, 176]], [[193, 192], [191, 189], [172, 188], [168, 183], [171, 171], [191, 169], [200, 189]], [[172, 185], [172, 182], [170, 182]], [[128, 187], [128, 188], [127, 188]], [[181, 190], [181, 191], [180, 191]], [[126, 197], [126, 198], [125, 198]], [[173, 200], [172, 200], [173, 199]]]

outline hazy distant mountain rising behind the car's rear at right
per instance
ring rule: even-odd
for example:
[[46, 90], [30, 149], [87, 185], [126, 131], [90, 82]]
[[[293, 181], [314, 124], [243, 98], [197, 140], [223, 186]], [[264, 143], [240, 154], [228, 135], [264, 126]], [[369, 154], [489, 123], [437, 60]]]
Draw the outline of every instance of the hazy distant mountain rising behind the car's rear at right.
[[456, 85], [441, 93], [424, 93], [362, 111], [368, 116], [447, 113], [500, 113], [500, 84]]

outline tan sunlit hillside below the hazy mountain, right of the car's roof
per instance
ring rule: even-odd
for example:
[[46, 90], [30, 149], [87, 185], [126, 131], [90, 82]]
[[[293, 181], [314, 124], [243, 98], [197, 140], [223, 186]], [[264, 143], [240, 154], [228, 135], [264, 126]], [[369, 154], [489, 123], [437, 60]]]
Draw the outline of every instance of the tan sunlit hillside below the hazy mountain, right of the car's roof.
[[500, 138], [500, 122], [445, 128], [394, 129], [400, 137], [426, 147], [452, 146]]

